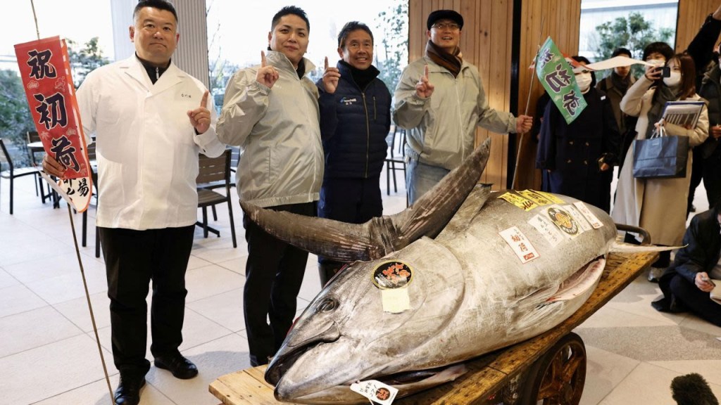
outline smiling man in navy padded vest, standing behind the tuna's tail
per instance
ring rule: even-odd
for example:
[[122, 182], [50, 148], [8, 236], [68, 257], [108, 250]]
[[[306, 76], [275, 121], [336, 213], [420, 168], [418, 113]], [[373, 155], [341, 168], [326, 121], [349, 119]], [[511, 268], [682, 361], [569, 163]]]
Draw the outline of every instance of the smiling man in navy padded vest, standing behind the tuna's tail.
[[[391, 94], [373, 63], [373, 32], [351, 21], [338, 34], [336, 68], [317, 82], [325, 153], [318, 216], [364, 223], [383, 214], [381, 169], [391, 126]], [[327, 59], [326, 59], [327, 65]], [[321, 285], [343, 263], [318, 258]]]

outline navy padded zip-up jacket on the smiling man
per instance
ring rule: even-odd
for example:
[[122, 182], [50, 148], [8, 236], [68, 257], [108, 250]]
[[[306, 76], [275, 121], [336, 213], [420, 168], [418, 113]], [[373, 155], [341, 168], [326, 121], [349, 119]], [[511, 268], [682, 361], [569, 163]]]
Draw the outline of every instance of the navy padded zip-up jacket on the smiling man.
[[[325, 153], [325, 177], [379, 177], [386, 159], [386, 136], [391, 126], [391, 94], [380, 79], [360, 89], [350, 68], [337, 64], [340, 80], [335, 93], [317, 82], [320, 133]], [[379, 71], [371, 66], [373, 76]]]

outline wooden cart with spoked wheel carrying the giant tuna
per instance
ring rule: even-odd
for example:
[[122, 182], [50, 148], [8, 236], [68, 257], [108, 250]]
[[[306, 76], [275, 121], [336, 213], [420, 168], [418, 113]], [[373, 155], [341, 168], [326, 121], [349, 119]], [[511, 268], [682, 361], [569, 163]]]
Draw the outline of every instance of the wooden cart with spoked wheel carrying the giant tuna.
[[[454, 381], [397, 399], [398, 405], [543, 404], [575, 405], [585, 382], [583, 341], [572, 329], [623, 290], [658, 257], [656, 253], [610, 254], [601, 282], [578, 311], [554, 329], [525, 342], [466, 362]], [[278, 405], [265, 366], [222, 375], [210, 391], [225, 405]]]

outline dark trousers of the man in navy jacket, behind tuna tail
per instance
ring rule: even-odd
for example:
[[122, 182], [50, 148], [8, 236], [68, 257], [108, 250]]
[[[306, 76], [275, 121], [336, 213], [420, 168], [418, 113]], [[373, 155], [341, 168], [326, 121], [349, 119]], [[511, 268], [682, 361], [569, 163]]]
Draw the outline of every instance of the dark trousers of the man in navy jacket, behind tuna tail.
[[[318, 216], [346, 223], [365, 223], [383, 215], [381, 174], [368, 179], [323, 179], [318, 202]], [[345, 263], [318, 257], [321, 286], [325, 285]]]

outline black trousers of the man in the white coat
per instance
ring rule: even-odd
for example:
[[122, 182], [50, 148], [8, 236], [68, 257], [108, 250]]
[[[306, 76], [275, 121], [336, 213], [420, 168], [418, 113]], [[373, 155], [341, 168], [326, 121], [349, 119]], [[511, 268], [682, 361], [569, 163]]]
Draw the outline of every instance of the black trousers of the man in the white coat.
[[110, 298], [112, 357], [121, 374], [150, 368], [146, 360], [149, 282], [153, 281], [151, 353], [176, 352], [185, 316], [185, 270], [195, 226], [135, 231], [99, 228]]

